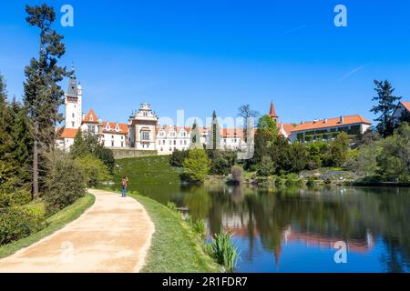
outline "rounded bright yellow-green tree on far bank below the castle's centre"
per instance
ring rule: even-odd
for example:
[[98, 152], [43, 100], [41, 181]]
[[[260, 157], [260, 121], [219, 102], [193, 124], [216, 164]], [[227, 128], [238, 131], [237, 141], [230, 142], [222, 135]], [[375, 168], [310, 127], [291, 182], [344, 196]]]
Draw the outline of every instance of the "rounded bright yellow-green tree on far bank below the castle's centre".
[[191, 149], [190, 156], [183, 162], [183, 180], [201, 183], [210, 171], [210, 160], [203, 149]]

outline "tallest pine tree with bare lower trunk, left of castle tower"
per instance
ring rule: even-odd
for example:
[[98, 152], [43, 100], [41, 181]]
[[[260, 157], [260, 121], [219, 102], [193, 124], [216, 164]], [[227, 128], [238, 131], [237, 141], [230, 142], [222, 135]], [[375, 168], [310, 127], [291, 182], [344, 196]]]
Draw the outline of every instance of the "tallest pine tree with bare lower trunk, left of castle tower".
[[28, 115], [33, 122], [33, 196], [38, 196], [38, 166], [39, 151], [52, 150], [55, 146], [57, 122], [62, 121], [58, 113], [59, 105], [63, 104], [64, 92], [58, 85], [65, 75], [66, 69], [57, 65], [57, 59], [66, 52], [52, 24], [56, 14], [52, 7], [26, 5], [26, 22], [40, 29], [38, 59], [33, 57], [26, 66], [26, 82], [24, 84], [24, 102]]

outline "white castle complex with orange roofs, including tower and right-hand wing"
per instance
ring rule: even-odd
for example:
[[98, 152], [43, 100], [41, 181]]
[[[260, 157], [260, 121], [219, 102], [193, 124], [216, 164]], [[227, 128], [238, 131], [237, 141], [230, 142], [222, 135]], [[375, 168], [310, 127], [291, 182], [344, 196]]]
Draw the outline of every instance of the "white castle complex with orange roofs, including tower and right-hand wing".
[[[82, 113], [82, 86], [77, 77], [70, 75], [65, 94], [65, 126], [57, 129], [56, 146], [69, 151], [81, 131], [97, 135], [101, 144], [112, 149], [135, 149], [170, 155], [175, 150], [190, 148], [214, 148], [220, 150], [243, 150], [247, 147], [242, 128], [221, 128], [214, 112], [209, 127], [159, 125], [159, 117], [151, 106], [142, 103], [138, 111], [128, 118], [128, 124], [103, 121], [93, 109]], [[298, 125], [281, 124], [271, 103], [269, 116], [278, 126], [278, 133], [290, 142], [311, 142], [332, 139], [338, 132], [363, 134], [372, 125], [362, 115], [340, 116], [302, 122]]]

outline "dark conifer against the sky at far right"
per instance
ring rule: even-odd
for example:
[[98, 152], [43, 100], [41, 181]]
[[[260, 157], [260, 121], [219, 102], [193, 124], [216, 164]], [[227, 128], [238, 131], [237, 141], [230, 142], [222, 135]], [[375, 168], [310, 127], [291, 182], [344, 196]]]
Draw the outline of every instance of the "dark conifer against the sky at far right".
[[378, 122], [378, 125], [376, 125], [377, 131], [383, 137], [393, 135], [395, 130], [393, 113], [401, 97], [393, 95], [395, 89], [387, 80], [374, 80], [374, 85], [374, 91], [377, 92], [377, 95], [374, 96], [373, 101], [376, 101], [377, 105], [374, 105], [370, 111], [375, 115], [380, 114], [380, 116], [375, 119], [375, 121]]

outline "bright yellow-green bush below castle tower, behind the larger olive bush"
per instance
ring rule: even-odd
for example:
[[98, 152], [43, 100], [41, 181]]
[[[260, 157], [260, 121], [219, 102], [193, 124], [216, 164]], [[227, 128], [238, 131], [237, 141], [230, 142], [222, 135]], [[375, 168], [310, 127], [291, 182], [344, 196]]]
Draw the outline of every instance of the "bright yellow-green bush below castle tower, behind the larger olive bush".
[[97, 186], [99, 182], [109, 179], [108, 167], [97, 157], [88, 154], [77, 157], [75, 161], [82, 169], [88, 187]]

